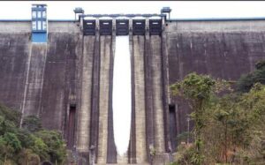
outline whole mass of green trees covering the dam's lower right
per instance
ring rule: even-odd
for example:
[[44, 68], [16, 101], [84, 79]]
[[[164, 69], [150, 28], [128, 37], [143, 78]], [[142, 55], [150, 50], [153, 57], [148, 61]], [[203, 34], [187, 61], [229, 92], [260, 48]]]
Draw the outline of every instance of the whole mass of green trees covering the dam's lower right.
[[194, 142], [178, 146], [175, 164], [265, 162], [264, 85], [236, 93], [223, 80], [191, 73], [171, 91], [186, 99], [194, 122]]

